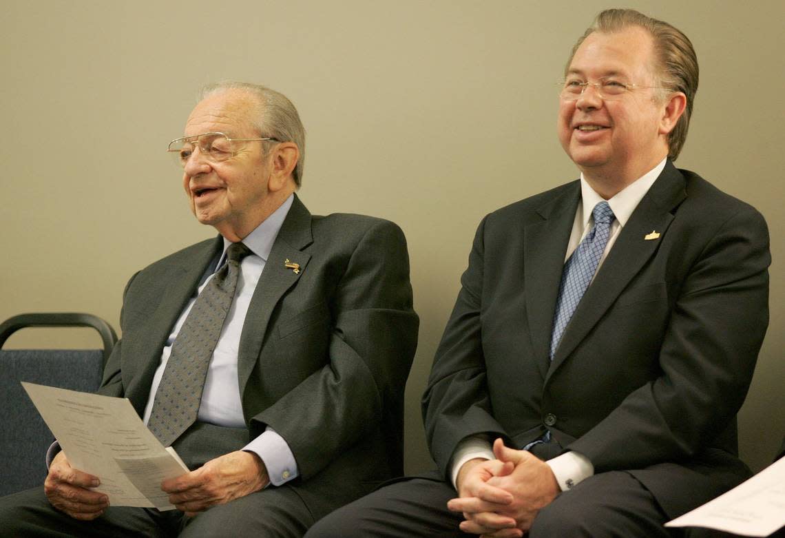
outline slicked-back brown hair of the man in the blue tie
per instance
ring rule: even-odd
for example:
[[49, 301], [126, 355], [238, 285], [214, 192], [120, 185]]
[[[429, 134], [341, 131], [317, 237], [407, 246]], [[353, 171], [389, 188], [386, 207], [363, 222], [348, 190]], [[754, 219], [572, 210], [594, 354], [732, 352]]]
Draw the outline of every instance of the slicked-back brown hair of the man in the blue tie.
[[631, 26], [644, 28], [654, 38], [655, 53], [659, 60], [659, 65], [656, 66], [658, 86], [665, 90], [661, 97], [664, 98], [671, 92], [682, 92], [687, 96], [685, 112], [668, 134], [668, 157], [676, 160], [687, 140], [689, 119], [698, 91], [698, 57], [692, 42], [680, 30], [634, 9], [606, 9], [597, 15], [594, 23], [572, 47], [564, 72], [566, 74], [569, 70], [575, 51], [591, 33], [599, 31], [610, 34]]

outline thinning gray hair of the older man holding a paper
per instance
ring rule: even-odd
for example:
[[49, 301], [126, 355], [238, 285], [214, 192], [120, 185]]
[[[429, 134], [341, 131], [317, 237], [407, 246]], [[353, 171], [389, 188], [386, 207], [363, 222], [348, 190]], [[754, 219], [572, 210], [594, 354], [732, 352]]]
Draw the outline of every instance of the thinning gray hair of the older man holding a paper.
[[[259, 136], [297, 144], [300, 158], [292, 175], [294, 176], [294, 184], [299, 187], [302, 183], [302, 170], [305, 166], [305, 127], [302, 125], [294, 104], [283, 93], [271, 90], [267, 86], [234, 81], [217, 82], [204, 86], [199, 93], [199, 100], [226, 90], [244, 90], [257, 98], [261, 104], [261, 110], [257, 118], [250, 120], [259, 131]], [[267, 141], [264, 143], [265, 145], [270, 144]]]

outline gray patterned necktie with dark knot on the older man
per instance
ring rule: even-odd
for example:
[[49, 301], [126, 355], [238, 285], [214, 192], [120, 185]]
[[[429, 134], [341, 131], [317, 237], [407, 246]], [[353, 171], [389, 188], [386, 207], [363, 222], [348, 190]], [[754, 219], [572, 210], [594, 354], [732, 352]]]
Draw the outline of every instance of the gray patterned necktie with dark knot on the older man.
[[207, 367], [235, 296], [239, 264], [251, 251], [243, 243], [232, 243], [226, 254], [228, 261], [196, 298], [177, 333], [155, 393], [148, 428], [164, 446], [196, 420]]

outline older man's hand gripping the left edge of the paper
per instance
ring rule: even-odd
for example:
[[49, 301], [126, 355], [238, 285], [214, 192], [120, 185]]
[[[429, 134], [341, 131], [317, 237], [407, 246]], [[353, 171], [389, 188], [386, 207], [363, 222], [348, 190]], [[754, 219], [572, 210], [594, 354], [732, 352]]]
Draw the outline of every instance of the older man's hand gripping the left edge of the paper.
[[44, 492], [57, 510], [71, 518], [89, 521], [103, 514], [109, 506], [109, 499], [104, 493], [90, 489], [99, 484], [97, 477], [71, 467], [65, 452], [59, 452], [49, 466]]

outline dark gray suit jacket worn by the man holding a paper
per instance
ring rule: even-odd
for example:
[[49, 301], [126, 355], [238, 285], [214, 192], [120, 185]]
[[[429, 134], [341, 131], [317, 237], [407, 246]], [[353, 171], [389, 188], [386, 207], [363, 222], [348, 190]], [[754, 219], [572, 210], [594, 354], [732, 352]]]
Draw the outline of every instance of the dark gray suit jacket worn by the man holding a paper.
[[[221, 236], [197, 243], [133, 276], [100, 393], [144, 412], [167, 336], [222, 245]], [[300, 273], [284, 267], [287, 258]], [[271, 426], [298, 463], [290, 486], [318, 518], [402, 472], [403, 387], [417, 335], [400, 228], [312, 216], [295, 196], [239, 342], [247, 428], [197, 424], [174, 447], [195, 468]]]

